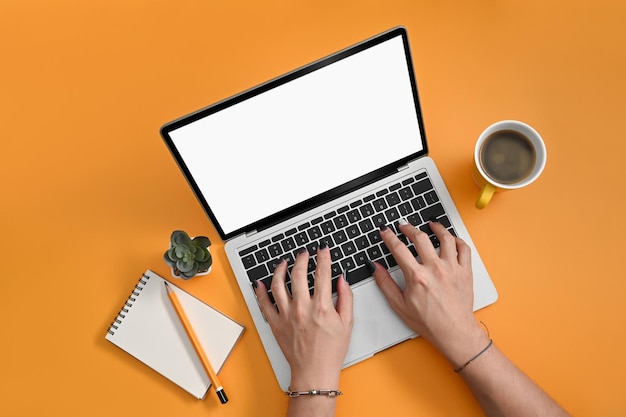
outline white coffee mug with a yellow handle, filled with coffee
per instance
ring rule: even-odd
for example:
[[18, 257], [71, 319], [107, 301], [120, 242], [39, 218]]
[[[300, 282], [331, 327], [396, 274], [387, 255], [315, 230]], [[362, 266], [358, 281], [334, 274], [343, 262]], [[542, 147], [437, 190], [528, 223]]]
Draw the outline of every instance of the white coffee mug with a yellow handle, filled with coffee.
[[484, 208], [497, 191], [515, 190], [535, 181], [546, 166], [546, 146], [535, 129], [517, 120], [502, 120], [485, 129], [474, 148], [473, 177]]

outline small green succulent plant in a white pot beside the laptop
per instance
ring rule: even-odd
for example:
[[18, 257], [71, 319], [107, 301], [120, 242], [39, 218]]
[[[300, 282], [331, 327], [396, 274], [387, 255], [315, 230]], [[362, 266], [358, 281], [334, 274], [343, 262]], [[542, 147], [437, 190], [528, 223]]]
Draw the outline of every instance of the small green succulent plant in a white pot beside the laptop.
[[206, 236], [193, 239], [182, 231], [172, 232], [170, 248], [163, 255], [165, 262], [172, 267], [174, 275], [189, 279], [198, 273], [206, 272], [213, 263], [208, 250], [211, 241]]

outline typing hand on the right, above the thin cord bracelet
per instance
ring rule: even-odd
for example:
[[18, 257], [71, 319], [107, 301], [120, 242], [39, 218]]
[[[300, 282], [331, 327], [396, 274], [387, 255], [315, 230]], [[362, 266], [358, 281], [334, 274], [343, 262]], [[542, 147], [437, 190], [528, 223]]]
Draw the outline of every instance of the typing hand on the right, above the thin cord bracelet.
[[402, 269], [406, 287], [402, 291], [379, 264], [374, 277], [400, 318], [456, 366], [483, 348], [488, 338], [473, 315], [469, 246], [440, 223], [431, 222], [430, 227], [439, 239], [440, 254], [426, 233], [400, 222], [400, 231], [415, 245], [421, 263], [392, 230], [383, 228], [382, 240]]

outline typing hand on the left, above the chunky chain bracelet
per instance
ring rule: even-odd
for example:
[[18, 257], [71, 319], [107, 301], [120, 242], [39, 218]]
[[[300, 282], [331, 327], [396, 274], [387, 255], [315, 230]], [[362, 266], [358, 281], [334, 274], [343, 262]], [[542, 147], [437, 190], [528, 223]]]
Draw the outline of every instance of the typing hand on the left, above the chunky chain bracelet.
[[320, 245], [311, 296], [307, 283], [308, 259], [306, 250], [296, 256], [291, 270], [291, 296], [285, 288], [287, 262], [283, 260], [274, 270], [271, 289], [278, 310], [263, 282], [258, 282], [256, 294], [291, 367], [291, 389], [337, 389], [352, 333], [352, 290], [340, 276], [337, 305], [333, 305], [330, 251]]

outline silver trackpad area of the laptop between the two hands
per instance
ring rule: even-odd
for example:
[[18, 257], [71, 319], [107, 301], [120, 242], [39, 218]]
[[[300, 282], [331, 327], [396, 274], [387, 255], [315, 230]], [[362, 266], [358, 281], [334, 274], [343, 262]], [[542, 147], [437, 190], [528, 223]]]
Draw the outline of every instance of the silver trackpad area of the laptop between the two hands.
[[[400, 285], [404, 287], [401, 273], [392, 275], [396, 275], [394, 278], [401, 281]], [[352, 292], [354, 326], [344, 366], [367, 359], [381, 350], [416, 336], [391, 309], [373, 279], [353, 287]]]

